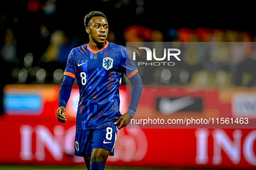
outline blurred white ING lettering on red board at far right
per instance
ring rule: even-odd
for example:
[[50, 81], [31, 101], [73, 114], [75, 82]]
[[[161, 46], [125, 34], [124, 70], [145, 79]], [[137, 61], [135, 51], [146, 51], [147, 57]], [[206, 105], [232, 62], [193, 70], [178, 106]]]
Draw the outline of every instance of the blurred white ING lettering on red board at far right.
[[[197, 129], [195, 131], [196, 136], [196, 164], [207, 164], [208, 163], [208, 129]], [[233, 164], [239, 164], [241, 161], [241, 148], [243, 148], [243, 157], [245, 160], [256, 166], [256, 154], [254, 153], [254, 142], [256, 141], [256, 130], [251, 131], [246, 135], [243, 143], [241, 142], [242, 131], [235, 129], [233, 131], [233, 140], [227, 135], [223, 129], [214, 129], [212, 131], [213, 137], [213, 151], [214, 155], [212, 163], [219, 165], [222, 163], [221, 151], [227, 154], [227, 157]]]

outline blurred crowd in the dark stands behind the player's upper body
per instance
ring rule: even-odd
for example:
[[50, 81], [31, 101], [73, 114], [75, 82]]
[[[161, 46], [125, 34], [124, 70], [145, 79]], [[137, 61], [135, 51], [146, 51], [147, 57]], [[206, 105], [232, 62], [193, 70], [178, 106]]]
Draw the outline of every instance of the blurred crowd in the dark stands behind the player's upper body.
[[[9, 3], [6, 6], [11, 6]], [[3, 84], [60, 84], [70, 50], [89, 41], [83, 19], [93, 10], [100, 10], [108, 18], [107, 40], [123, 46], [126, 41], [173, 41], [180, 42], [181, 48], [186, 46], [185, 42], [233, 42], [213, 44], [211, 54], [207, 48], [193, 51], [195, 43], [192, 43], [182, 55], [182, 64], [152, 72], [151, 76], [157, 77], [155, 82], [143, 79], [142, 72], [146, 85], [250, 87], [256, 84], [256, 46], [245, 43], [255, 41], [256, 36], [246, 31], [172, 25], [158, 28], [150, 25], [149, 19], [141, 20], [151, 13], [146, 10], [149, 4], [145, 0], [101, 0], [97, 5], [80, 0], [72, 3], [27, 0], [17, 2], [12, 9], [3, 9], [0, 15]]]

